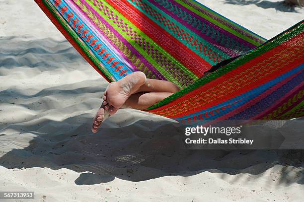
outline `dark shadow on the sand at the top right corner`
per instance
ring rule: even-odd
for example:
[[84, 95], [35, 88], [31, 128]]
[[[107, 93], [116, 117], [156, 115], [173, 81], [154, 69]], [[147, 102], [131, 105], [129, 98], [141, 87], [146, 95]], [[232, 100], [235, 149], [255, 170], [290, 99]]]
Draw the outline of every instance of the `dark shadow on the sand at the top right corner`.
[[282, 12], [298, 12], [295, 8], [296, 6], [289, 5], [285, 1], [272, 2], [269, 0], [225, 0], [225, 3], [238, 4], [238, 5], [248, 5], [255, 4], [261, 8], [275, 8], [277, 11]]

